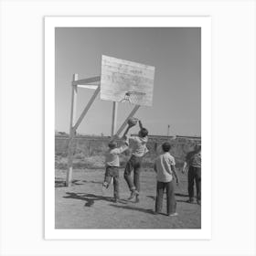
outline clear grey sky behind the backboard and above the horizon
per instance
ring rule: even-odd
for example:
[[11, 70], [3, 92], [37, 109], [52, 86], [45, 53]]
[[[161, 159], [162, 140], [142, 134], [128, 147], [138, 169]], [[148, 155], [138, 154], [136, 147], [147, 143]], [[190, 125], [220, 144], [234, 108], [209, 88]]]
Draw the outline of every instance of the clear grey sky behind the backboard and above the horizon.
[[[71, 80], [101, 75], [101, 55], [155, 66], [153, 105], [135, 117], [150, 134], [201, 135], [201, 37], [197, 27], [58, 27], [55, 36], [55, 129], [69, 133]], [[79, 89], [77, 118], [93, 90]], [[119, 103], [117, 129], [133, 109]], [[78, 133], [110, 135], [112, 101], [100, 96]], [[132, 133], [136, 133], [134, 127]]]

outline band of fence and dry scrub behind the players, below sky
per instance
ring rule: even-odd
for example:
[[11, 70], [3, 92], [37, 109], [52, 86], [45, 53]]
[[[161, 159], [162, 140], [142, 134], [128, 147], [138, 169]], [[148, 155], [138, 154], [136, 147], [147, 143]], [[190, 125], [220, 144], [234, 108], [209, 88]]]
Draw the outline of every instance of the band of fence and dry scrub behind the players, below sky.
[[[103, 167], [104, 153], [108, 149], [110, 137], [107, 136], [82, 136], [78, 135], [74, 139], [74, 165], [76, 167]], [[176, 165], [181, 166], [185, 161], [188, 152], [192, 151], [195, 144], [200, 143], [200, 137], [187, 136], [149, 136], [147, 147], [149, 153], [144, 156], [145, 165], [152, 167], [155, 157], [158, 155], [159, 147], [164, 142], [172, 145], [171, 155], [176, 158]], [[68, 135], [55, 135], [55, 155], [57, 167], [66, 167], [66, 157], [68, 155]], [[119, 141], [121, 144], [121, 140]], [[127, 161], [131, 152], [127, 151], [121, 156], [121, 163]]]

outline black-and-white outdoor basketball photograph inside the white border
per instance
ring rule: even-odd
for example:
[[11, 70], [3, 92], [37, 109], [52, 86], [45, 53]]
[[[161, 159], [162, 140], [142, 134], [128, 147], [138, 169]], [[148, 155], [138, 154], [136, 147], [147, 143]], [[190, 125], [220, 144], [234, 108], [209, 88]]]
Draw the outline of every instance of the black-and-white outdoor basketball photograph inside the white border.
[[201, 27], [54, 38], [55, 229], [201, 229]]

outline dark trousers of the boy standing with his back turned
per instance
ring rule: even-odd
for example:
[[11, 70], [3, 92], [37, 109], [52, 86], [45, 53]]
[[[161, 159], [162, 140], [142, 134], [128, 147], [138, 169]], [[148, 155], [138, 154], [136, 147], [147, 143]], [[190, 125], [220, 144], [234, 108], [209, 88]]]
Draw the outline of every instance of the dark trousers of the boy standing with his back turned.
[[155, 212], [161, 212], [163, 206], [163, 197], [166, 188], [166, 199], [167, 199], [167, 214], [176, 212], [176, 197], [174, 181], [160, 182], [157, 181], [156, 186], [156, 199], [155, 199]]

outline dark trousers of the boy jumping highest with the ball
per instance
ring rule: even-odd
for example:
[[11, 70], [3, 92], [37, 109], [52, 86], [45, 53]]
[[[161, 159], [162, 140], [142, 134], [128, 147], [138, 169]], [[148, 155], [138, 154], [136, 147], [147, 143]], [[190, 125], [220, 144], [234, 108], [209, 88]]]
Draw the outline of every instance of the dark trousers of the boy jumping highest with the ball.
[[[124, 170], [124, 179], [128, 184], [128, 187], [131, 191], [137, 190], [140, 191], [140, 172], [142, 165], [142, 157], [138, 157], [132, 155], [130, 160], [125, 166]], [[132, 179], [132, 171], [133, 171], [133, 179]]]

